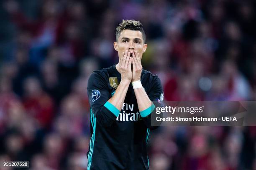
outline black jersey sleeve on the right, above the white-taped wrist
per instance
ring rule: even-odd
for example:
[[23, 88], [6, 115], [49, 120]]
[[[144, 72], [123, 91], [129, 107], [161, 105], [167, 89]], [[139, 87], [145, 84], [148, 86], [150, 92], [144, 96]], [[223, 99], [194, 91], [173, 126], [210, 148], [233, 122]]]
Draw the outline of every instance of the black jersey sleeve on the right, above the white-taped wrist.
[[[151, 88], [148, 92], [148, 98], [154, 102], [154, 110], [151, 110], [151, 114], [149, 114], [146, 117], [142, 117], [142, 120], [144, 121], [144, 123], [146, 124], [146, 126], [150, 129], [150, 130], [154, 130], [156, 128], [158, 128], [158, 126], [161, 124], [161, 122], [159, 122], [158, 126], [151, 126], [151, 119], [155, 119], [156, 116], [160, 116], [163, 117], [163, 114], [161, 113], [160, 115], [156, 114], [156, 107], [163, 107], [163, 100], [164, 100], [164, 91], [161, 85], [161, 80], [157, 77], [154, 76], [152, 81], [150, 81], [151, 83]], [[151, 107], [152, 108], [152, 107]]]

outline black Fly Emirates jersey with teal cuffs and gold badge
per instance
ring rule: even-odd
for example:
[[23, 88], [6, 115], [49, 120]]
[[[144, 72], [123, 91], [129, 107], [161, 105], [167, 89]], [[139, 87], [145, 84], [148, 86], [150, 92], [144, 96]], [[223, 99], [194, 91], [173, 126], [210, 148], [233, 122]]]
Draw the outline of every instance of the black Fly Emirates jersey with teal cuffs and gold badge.
[[[106, 102], [114, 95], [121, 80], [115, 65], [97, 70], [88, 80], [91, 140], [88, 170], [148, 170], [147, 142], [151, 114], [142, 117], [132, 85], [129, 85], [122, 110], [114, 114]], [[142, 70], [141, 84], [151, 101], [163, 98], [160, 79]], [[116, 109], [116, 108], [115, 108]], [[117, 110], [117, 109], [116, 109]]]

